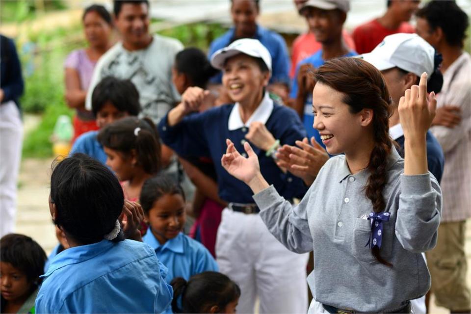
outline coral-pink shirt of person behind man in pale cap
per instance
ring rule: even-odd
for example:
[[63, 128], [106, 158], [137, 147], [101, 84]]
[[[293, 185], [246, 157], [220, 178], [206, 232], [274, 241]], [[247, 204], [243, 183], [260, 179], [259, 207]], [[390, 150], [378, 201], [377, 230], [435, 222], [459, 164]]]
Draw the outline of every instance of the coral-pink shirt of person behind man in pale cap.
[[[353, 38], [345, 29], [342, 32], [342, 37], [347, 47], [351, 50], [355, 50], [355, 43], [353, 42]], [[299, 61], [313, 55], [321, 48], [322, 45], [315, 40], [315, 35], [311, 32], [301, 34], [296, 37], [291, 49], [291, 70], [289, 71], [289, 76], [294, 78], [296, 66], [298, 65]]]

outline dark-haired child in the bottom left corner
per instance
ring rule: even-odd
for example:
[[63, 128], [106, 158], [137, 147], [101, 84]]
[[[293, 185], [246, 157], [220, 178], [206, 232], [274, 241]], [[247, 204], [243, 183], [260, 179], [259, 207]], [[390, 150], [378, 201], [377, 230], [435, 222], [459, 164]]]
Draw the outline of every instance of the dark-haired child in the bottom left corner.
[[32, 238], [9, 234], [0, 239], [0, 313], [34, 313], [46, 253]]

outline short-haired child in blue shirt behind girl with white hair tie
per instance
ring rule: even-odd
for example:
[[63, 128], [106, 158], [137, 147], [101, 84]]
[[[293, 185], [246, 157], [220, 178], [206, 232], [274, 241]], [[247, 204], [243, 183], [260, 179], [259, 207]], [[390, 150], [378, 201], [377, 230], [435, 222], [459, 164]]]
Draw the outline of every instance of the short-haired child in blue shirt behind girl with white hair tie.
[[[137, 116], [140, 111], [139, 92], [129, 79], [106, 77], [93, 90], [92, 112], [100, 129], [123, 117]], [[97, 140], [98, 132], [81, 134], [75, 140], [70, 155], [83, 153], [106, 164], [105, 151]]]

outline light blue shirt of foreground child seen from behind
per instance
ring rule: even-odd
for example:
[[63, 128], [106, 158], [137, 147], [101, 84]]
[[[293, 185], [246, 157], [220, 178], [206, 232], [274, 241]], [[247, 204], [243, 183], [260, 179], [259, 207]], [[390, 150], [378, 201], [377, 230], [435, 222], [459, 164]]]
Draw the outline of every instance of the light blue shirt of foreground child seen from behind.
[[147, 244], [133, 240], [71, 247], [49, 266], [36, 313], [161, 313], [173, 289]]

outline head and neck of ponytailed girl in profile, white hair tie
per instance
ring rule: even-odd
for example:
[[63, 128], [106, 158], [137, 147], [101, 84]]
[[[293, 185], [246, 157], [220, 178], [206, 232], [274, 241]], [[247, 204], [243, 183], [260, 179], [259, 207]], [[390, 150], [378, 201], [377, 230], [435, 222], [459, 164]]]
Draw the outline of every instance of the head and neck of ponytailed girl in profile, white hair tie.
[[144, 182], [160, 170], [160, 140], [148, 118], [126, 117], [107, 125], [97, 137], [106, 165], [123, 186], [125, 198], [139, 200]]

